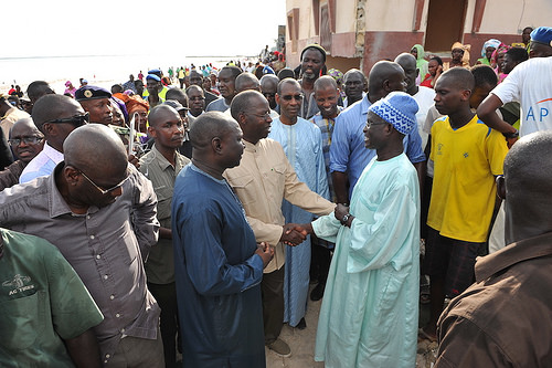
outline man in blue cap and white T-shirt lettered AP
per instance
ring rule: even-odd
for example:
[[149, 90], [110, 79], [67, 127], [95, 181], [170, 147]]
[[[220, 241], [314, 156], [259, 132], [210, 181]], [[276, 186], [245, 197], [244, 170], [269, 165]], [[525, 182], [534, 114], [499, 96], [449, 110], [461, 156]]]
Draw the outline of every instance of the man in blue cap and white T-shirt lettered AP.
[[[477, 108], [489, 127], [514, 141], [539, 130], [552, 129], [552, 28], [531, 32], [530, 60], [516, 66]], [[521, 104], [520, 132], [502, 120], [496, 109], [509, 102]]]

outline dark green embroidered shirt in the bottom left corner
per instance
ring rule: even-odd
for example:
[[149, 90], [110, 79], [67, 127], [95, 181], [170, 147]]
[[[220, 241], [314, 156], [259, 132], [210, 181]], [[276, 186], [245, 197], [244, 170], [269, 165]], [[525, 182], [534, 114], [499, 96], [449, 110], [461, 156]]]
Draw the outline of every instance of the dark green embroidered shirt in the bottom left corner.
[[63, 339], [103, 315], [57, 248], [0, 229], [0, 367], [74, 367]]

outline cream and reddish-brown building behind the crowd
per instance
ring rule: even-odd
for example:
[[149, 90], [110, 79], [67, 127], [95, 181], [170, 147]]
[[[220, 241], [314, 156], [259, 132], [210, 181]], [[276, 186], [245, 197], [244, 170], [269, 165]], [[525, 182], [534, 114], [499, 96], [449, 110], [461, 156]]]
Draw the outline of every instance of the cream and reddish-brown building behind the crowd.
[[364, 73], [420, 43], [426, 54], [449, 56], [459, 41], [471, 45], [470, 64], [486, 40], [521, 42], [526, 27], [551, 25], [550, 0], [286, 0], [287, 65], [299, 65], [300, 51], [319, 43], [327, 65]]

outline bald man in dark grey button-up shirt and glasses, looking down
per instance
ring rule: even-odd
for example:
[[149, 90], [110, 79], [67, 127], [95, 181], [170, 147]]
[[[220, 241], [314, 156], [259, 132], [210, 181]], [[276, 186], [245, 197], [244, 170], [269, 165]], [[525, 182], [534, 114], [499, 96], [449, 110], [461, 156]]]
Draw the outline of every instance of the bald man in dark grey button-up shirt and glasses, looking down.
[[104, 367], [164, 368], [144, 270], [159, 230], [151, 182], [104, 125], [75, 129], [63, 151], [51, 176], [0, 192], [0, 227], [44, 238], [76, 271], [105, 317], [94, 328]]

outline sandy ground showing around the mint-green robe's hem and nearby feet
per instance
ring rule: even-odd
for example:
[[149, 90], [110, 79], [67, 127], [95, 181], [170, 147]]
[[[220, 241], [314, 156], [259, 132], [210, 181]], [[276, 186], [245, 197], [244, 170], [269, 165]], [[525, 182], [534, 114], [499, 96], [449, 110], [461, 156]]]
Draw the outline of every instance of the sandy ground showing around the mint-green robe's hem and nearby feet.
[[[311, 288], [314, 285], [311, 285]], [[309, 301], [308, 311], [305, 319], [307, 320], [307, 328], [299, 330], [297, 328], [284, 325], [280, 338], [286, 341], [291, 348], [291, 356], [283, 358], [274, 354], [268, 348], [266, 349], [266, 367], [267, 368], [323, 368], [323, 362], [315, 361], [315, 339], [316, 328], [318, 324], [318, 314], [322, 301]], [[428, 311], [426, 306], [421, 307], [421, 322], [425, 323], [428, 318]], [[418, 343], [418, 354], [416, 357], [416, 368], [432, 368], [435, 361], [435, 351], [437, 344], [427, 340]]]

